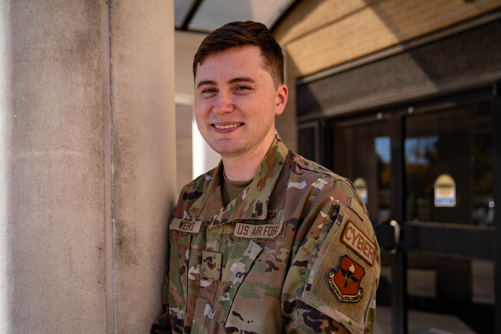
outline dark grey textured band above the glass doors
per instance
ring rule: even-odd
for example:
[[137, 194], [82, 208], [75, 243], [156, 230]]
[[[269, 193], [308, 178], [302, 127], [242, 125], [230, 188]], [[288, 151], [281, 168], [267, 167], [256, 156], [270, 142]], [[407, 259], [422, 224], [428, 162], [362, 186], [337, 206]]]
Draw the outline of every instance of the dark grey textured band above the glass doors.
[[[383, 22], [399, 33], [399, 28], [381, 13], [379, 2], [370, 3]], [[386, 21], [385, 21], [386, 20]], [[366, 101], [397, 99], [417, 89], [430, 93], [445, 91], [460, 78], [499, 70], [501, 21], [429, 42], [392, 56], [351, 68], [298, 87], [298, 115], [328, 109], [355, 110]], [[403, 43], [405, 45], [405, 42]], [[479, 50], [482, 50], [479, 52]], [[372, 102], [374, 101], [374, 102]], [[379, 102], [377, 102], [379, 101]], [[353, 106], [353, 107], [352, 107]], [[358, 107], [360, 108], [360, 107]]]

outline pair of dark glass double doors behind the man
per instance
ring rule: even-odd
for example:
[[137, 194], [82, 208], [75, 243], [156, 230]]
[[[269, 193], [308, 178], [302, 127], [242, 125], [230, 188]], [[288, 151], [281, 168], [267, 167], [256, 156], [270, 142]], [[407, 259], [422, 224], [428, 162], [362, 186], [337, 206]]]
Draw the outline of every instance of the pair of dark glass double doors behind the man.
[[461, 95], [331, 120], [329, 167], [354, 183], [386, 249], [376, 332], [495, 331], [492, 103]]

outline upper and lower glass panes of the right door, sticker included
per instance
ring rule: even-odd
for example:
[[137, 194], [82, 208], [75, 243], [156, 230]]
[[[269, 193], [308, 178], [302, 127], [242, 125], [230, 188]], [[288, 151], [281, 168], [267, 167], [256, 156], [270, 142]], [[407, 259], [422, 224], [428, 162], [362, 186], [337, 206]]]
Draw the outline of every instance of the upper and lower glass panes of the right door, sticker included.
[[494, 232], [490, 102], [414, 112], [404, 119], [404, 133], [405, 218], [409, 224], [445, 231], [439, 239], [443, 254], [407, 252], [409, 306], [433, 310], [442, 319], [437, 323], [436, 316], [423, 316], [423, 327], [492, 332], [493, 254], [446, 253], [459, 242], [473, 243], [468, 234]]

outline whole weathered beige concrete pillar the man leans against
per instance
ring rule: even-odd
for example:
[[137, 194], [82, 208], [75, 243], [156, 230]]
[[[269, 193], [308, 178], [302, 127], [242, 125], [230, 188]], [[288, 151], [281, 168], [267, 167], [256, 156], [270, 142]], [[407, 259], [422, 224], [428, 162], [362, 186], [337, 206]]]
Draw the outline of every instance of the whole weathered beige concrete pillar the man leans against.
[[175, 194], [173, 2], [0, 0], [0, 333], [147, 333]]

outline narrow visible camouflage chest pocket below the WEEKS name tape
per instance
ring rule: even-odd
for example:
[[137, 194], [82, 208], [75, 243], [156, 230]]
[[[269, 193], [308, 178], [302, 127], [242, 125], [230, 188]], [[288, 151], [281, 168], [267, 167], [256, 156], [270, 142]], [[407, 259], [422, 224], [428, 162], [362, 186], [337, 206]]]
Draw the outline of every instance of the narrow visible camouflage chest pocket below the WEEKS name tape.
[[170, 246], [169, 311], [171, 321], [184, 319], [188, 293], [188, 259], [191, 236], [177, 239]]

